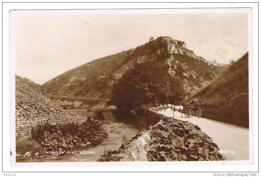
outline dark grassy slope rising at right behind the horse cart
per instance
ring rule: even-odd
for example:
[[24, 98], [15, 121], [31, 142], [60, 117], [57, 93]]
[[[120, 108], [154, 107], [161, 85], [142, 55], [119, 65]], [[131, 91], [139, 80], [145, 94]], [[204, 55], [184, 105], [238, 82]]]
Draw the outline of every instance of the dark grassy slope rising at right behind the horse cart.
[[202, 117], [248, 128], [248, 53], [193, 98], [202, 105]]

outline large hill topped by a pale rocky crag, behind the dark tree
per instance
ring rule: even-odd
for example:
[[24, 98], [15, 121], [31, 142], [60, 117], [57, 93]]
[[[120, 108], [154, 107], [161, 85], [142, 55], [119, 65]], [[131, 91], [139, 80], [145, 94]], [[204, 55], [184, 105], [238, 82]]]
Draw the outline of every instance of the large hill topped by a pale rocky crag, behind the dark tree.
[[[38, 89], [67, 108], [107, 108], [106, 102], [110, 99], [110, 92], [117, 80], [135, 63], [149, 62], [163, 66], [170, 75], [182, 80], [186, 95], [205, 86], [220, 74], [221, 68], [228, 66], [209, 62], [195, 55], [192, 50], [187, 49], [185, 42], [171, 37], [158, 37], [137, 48], [71, 69]], [[97, 101], [90, 101], [97, 99], [103, 100], [98, 104]]]

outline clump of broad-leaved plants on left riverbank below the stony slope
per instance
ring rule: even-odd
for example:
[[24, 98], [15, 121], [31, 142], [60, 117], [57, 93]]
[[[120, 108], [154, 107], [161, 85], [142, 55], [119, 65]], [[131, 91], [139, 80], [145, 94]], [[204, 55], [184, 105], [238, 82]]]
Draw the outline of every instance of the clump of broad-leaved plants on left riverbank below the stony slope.
[[32, 129], [32, 137], [41, 144], [44, 151], [63, 151], [89, 144], [103, 142], [108, 135], [98, 121], [88, 117], [82, 124], [67, 123], [50, 125], [40, 123]]

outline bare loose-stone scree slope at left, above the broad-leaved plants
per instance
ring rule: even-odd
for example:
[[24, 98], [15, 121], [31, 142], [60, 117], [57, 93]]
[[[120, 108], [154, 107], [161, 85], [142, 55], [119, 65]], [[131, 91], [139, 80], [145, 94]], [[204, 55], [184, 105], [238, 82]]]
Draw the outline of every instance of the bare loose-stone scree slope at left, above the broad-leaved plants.
[[84, 122], [86, 117], [80, 117], [74, 113], [68, 113], [24, 83], [18, 76], [15, 78], [15, 129], [16, 137], [31, 136], [34, 125], [49, 122]]

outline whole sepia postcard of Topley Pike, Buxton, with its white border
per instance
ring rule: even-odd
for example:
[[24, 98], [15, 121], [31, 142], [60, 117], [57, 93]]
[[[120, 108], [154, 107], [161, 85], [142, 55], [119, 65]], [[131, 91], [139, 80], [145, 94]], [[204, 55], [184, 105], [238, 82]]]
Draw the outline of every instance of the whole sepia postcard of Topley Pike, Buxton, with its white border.
[[10, 166], [253, 165], [252, 30], [252, 8], [10, 10]]

